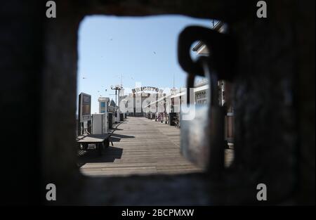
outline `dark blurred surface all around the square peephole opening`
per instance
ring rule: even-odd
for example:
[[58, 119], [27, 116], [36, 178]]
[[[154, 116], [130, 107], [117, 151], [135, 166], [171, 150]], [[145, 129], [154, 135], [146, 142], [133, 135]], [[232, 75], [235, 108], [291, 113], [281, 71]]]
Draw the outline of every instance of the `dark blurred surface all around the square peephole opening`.
[[[187, 204], [211, 200], [216, 205], [253, 205], [258, 204], [256, 183], [265, 182], [270, 186], [270, 205], [287, 200], [315, 205], [315, 1], [269, 1], [266, 20], [256, 18], [253, 1], [94, 0], [57, 4], [58, 18], [54, 21], [43, 19], [44, 5], [35, 0], [4, 1], [0, 8], [4, 18], [0, 66], [6, 70], [2, 81], [10, 82], [1, 86], [1, 93], [6, 94], [2, 110], [8, 113], [3, 135], [11, 137], [23, 125], [29, 128], [23, 135], [32, 142], [32, 148], [6, 143], [12, 147], [2, 152], [1, 166], [7, 168], [3, 174], [6, 181], [1, 182], [1, 203], [39, 203], [46, 193], [39, 188], [44, 189], [46, 181], [55, 181], [59, 184], [58, 201], [66, 205], [71, 200], [96, 205], [145, 204], [150, 203], [146, 195], [153, 190], [160, 193], [159, 204], [178, 204], [187, 195]], [[228, 22], [237, 40], [238, 75], [232, 97], [234, 169], [225, 176], [225, 184], [202, 175], [84, 179], [75, 168], [73, 132], [80, 20], [94, 14], [170, 13]], [[32, 97], [31, 102], [28, 97]], [[25, 107], [24, 111], [18, 106]], [[23, 121], [25, 118], [30, 121]], [[65, 138], [58, 138], [60, 134]], [[15, 166], [8, 166], [12, 161]], [[132, 198], [124, 197], [131, 192]]]

